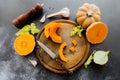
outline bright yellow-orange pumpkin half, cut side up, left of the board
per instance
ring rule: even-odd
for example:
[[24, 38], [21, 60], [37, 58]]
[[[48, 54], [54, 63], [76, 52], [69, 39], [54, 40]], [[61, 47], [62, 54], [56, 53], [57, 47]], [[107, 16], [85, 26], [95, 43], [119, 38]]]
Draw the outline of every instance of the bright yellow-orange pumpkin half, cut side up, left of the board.
[[30, 34], [21, 34], [14, 41], [14, 49], [21, 56], [30, 54], [33, 51], [34, 47], [35, 39], [34, 36]]

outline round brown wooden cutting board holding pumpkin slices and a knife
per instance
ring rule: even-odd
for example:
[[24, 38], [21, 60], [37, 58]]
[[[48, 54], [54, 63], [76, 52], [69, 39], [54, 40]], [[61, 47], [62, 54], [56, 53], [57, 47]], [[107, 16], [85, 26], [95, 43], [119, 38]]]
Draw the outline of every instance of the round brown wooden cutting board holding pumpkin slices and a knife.
[[[61, 23], [62, 27], [57, 30], [57, 34], [62, 36], [62, 43], [66, 42], [67, 46], [64, 48], [64, 56], [68, 58], [68, 62], [63, 62], [70, 70], [74, 71], [78, 69], [88, 58], [90, 44], [87, 42], [86, 38], [82, 35], [79, 37], [77, 35], [70, 37], [70, 32], [77, 24], [70, 20], [55, 20], [57, 23]], [[57, 56], [59, 56], [58, 51], [61, 43], [54, 43], [51, 38], [46, 38], [44, 35], [44, 28], [38, 33], [37, 40], [45, 44], [51, 51], [53, 51]], [[77, 41], [77, 46], [75, 46], [76, 51], [71, 52], [69, 49], [73, 46], [72, 40]], [[41, 65], [46, 69], [53, 71], [55, 73], [67, 73], [65, 69], [37, 45], [36, 56]]]

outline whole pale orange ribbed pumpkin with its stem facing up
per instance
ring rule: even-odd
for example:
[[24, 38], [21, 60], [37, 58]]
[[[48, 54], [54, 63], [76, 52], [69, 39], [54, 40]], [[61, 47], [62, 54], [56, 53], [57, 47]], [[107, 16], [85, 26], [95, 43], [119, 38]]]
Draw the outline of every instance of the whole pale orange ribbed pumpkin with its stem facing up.
[[101, 20], [101, 11], [95, 4], [85, 3], [79, 7], [76, 13], [76, 20], [83, 28]]

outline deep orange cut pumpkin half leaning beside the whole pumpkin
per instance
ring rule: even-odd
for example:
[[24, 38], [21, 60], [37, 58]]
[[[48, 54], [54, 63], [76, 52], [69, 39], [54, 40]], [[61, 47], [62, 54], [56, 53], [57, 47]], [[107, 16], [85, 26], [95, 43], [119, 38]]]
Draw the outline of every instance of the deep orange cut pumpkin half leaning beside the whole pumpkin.
[[92, 44], [98, 44], [105, 40], [108, 34], [108, 27], [103, 22], [92, 23], [86, 30], [87, 40]]

